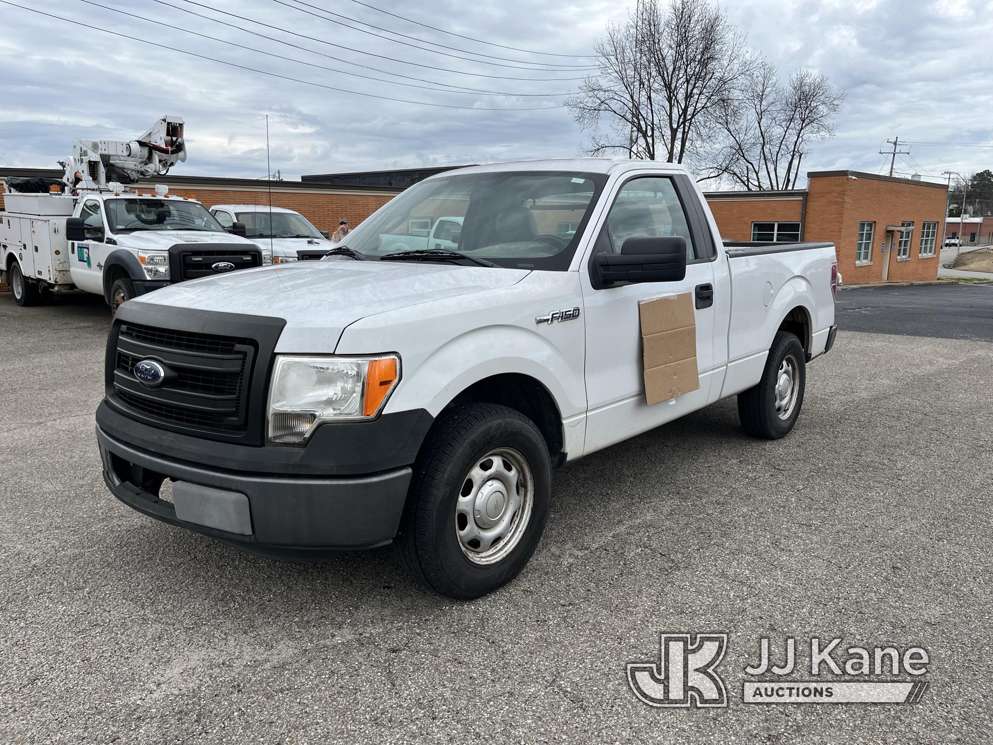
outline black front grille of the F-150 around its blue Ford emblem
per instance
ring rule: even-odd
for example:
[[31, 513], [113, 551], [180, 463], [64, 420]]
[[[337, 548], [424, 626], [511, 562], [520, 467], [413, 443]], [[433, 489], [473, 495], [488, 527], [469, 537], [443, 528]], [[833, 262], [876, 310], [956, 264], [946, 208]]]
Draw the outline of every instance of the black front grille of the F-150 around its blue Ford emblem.
[[[115, 403], [140, 418], [202, 432], [243, 433], [256, 344], [251, 339], [123, 322], [113, 351]], [[166, 371], [146, 385], [134, 367], [151, 360]]]

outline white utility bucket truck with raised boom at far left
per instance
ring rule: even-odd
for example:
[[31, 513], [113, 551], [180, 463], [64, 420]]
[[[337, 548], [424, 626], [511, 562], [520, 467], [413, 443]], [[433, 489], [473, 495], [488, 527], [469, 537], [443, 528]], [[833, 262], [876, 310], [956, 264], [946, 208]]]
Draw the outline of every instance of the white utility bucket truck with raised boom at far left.
[[[187, 279], [271, 263], [271, 251], [227, 231], [207, 209], [168, 188], [139, 194], [187, 156], [183, 119], [164, 116], [138, 139], [72, 143], [57, 179], [7, 179], [0, 213], [0, 272], [18, 305], [57, 292], [125, 300]], [[242, 234], [237, 234], [237, 233]]]

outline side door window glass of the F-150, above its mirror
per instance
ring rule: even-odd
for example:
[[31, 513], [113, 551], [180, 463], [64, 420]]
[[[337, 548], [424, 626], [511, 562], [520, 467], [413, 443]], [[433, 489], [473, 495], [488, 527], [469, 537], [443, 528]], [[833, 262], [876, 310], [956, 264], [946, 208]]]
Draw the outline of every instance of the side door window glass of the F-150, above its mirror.
[[628, 238], [682, 235], [686, 260], [696, 258], [693, 236], [672, 179], [646, 176], [632, 179], [618, 193], [597, 240], [596, 251], [621, 252]]

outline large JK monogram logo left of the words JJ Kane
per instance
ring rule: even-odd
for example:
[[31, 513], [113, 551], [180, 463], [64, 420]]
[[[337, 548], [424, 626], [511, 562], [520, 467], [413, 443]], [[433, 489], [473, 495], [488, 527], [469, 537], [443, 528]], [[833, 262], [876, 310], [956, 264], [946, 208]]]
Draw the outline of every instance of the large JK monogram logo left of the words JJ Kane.
[[660, 634], [658, 663], [629, 663], [628, 683], [649, 706], [728, 705], [724, 680], [714, 669], [727, 634]]

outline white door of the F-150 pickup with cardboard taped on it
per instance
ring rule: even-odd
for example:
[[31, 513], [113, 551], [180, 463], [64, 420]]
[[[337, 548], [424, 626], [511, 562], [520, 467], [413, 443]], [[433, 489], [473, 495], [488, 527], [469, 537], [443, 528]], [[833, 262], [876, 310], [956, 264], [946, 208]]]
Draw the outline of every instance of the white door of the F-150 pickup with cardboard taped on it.
[[[665, 182], [665, 183], [663, 183]], [[686, 276], [674, 282], [644, 282], [594, 289], [586, 274], [583, 302], [586, 316], [586, 391], [588, 401], [585, 452], [593, 452], [706, 405], [715, 372], [713, 334], [715, 307], [723, 307], [713, 264], [697, 258], [706, 252], [687, 221], [678, 184], [660, 177], [634, 178], [622, 185], [593, 248], [593, 253], [620, 251], [626, 238], [683, 235], [687, 238]], [[589, 264], [583, 269], [589, 272]], [[712, 294], [707, 297], [707, 287]], [[696, 302], [697, 288], [700, 302]], [[648, 406], [644, 399], [641, 329], [638, 301], [661, 295], [694, 296], [696, 356], [700, 388]], [[702, 306], [702, 307], [697, 307]]]

